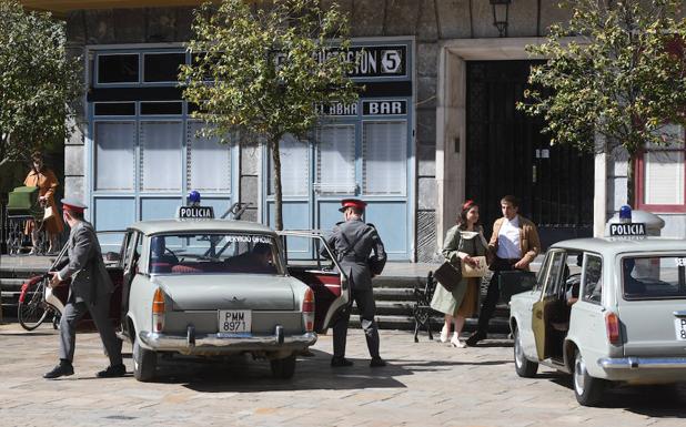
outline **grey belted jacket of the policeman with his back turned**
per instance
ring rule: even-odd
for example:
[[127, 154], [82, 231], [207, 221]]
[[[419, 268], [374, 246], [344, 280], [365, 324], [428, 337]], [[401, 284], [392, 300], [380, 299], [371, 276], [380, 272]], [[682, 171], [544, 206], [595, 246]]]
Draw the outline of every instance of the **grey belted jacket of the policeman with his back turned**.
[[386, 251], [376, 228], [362, 220], [340, 222], [327, 243], [347, 275], [351, 288], [371, 289], [371, 267], [375, 274], [380, 274], [386, 264]]

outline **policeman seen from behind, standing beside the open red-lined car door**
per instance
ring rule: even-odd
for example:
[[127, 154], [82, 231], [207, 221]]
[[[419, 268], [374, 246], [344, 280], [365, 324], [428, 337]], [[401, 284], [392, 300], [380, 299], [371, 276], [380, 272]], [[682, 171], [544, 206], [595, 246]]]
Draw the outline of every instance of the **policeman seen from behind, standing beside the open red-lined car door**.
[[[356, 199], [345, 199], [339, 210], [345, 221], [340, 222], [333, 228], [333, 234], [327, 243], [347, 275], [351, 287], [352, 301], [357, 303], [362, 329], [366, 337], [366, 345], [372, 356], [370, 366], [385, 366], [386, 363], [379, 355], [379, 327], [374, 315], [376, 305], [372, 293], [372, 277], [381, 274], [386, 263], [386, 252], [383, 242], [372, 224], [362, 221], [366, 203]], [[370, 256], [374, 252], [373, 256]], [[345, 358], [345, 340], [347, 337], [347, 323], [350, 321], [350, 306], [341, 314], [333, 325], [333, 358], [331, 366], [352, 366], [353, 363]]]

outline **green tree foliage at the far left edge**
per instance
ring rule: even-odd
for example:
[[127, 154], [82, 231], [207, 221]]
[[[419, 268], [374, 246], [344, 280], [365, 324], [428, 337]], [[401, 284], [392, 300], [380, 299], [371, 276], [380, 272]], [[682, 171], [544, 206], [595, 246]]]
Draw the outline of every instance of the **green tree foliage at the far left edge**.
[[0, 165], [64, 143], [68, 103], [81, 91], [78, 58], [68, 58], [64, 23], [0, 0]]

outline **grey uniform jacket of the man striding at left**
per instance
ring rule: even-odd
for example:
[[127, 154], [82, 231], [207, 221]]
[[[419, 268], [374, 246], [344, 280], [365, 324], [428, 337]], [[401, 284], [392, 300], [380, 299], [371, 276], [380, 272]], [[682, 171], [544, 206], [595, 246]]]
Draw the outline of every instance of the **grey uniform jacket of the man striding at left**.
[[70, 299], [97, 303], [114, 291], [93, 226], [79, 221], [69, 233], [67, 258], [60, 263], [60, 277], [71, 277]]

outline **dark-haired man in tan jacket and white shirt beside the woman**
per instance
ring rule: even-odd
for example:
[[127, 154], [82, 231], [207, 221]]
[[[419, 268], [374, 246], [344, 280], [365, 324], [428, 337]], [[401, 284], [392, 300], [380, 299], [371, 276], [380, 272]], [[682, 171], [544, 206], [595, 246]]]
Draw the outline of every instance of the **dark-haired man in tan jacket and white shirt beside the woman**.
[[493, 316], [500, 298], [500, 272], [521, 270], [528, 271], [528, 265], [541, 252], [541, 240], [536, 225], [518, 214], [519, 201], [513, 195], [501, 200], [503, 217], [493, 224], [493, 234], [488, 242], [490, 268], [494, 272], [488, 283], [488, 293], [478, 314], [478, 327], [467, 338], [467, 345], [474, 346], [486, 338], [488, 321]]

